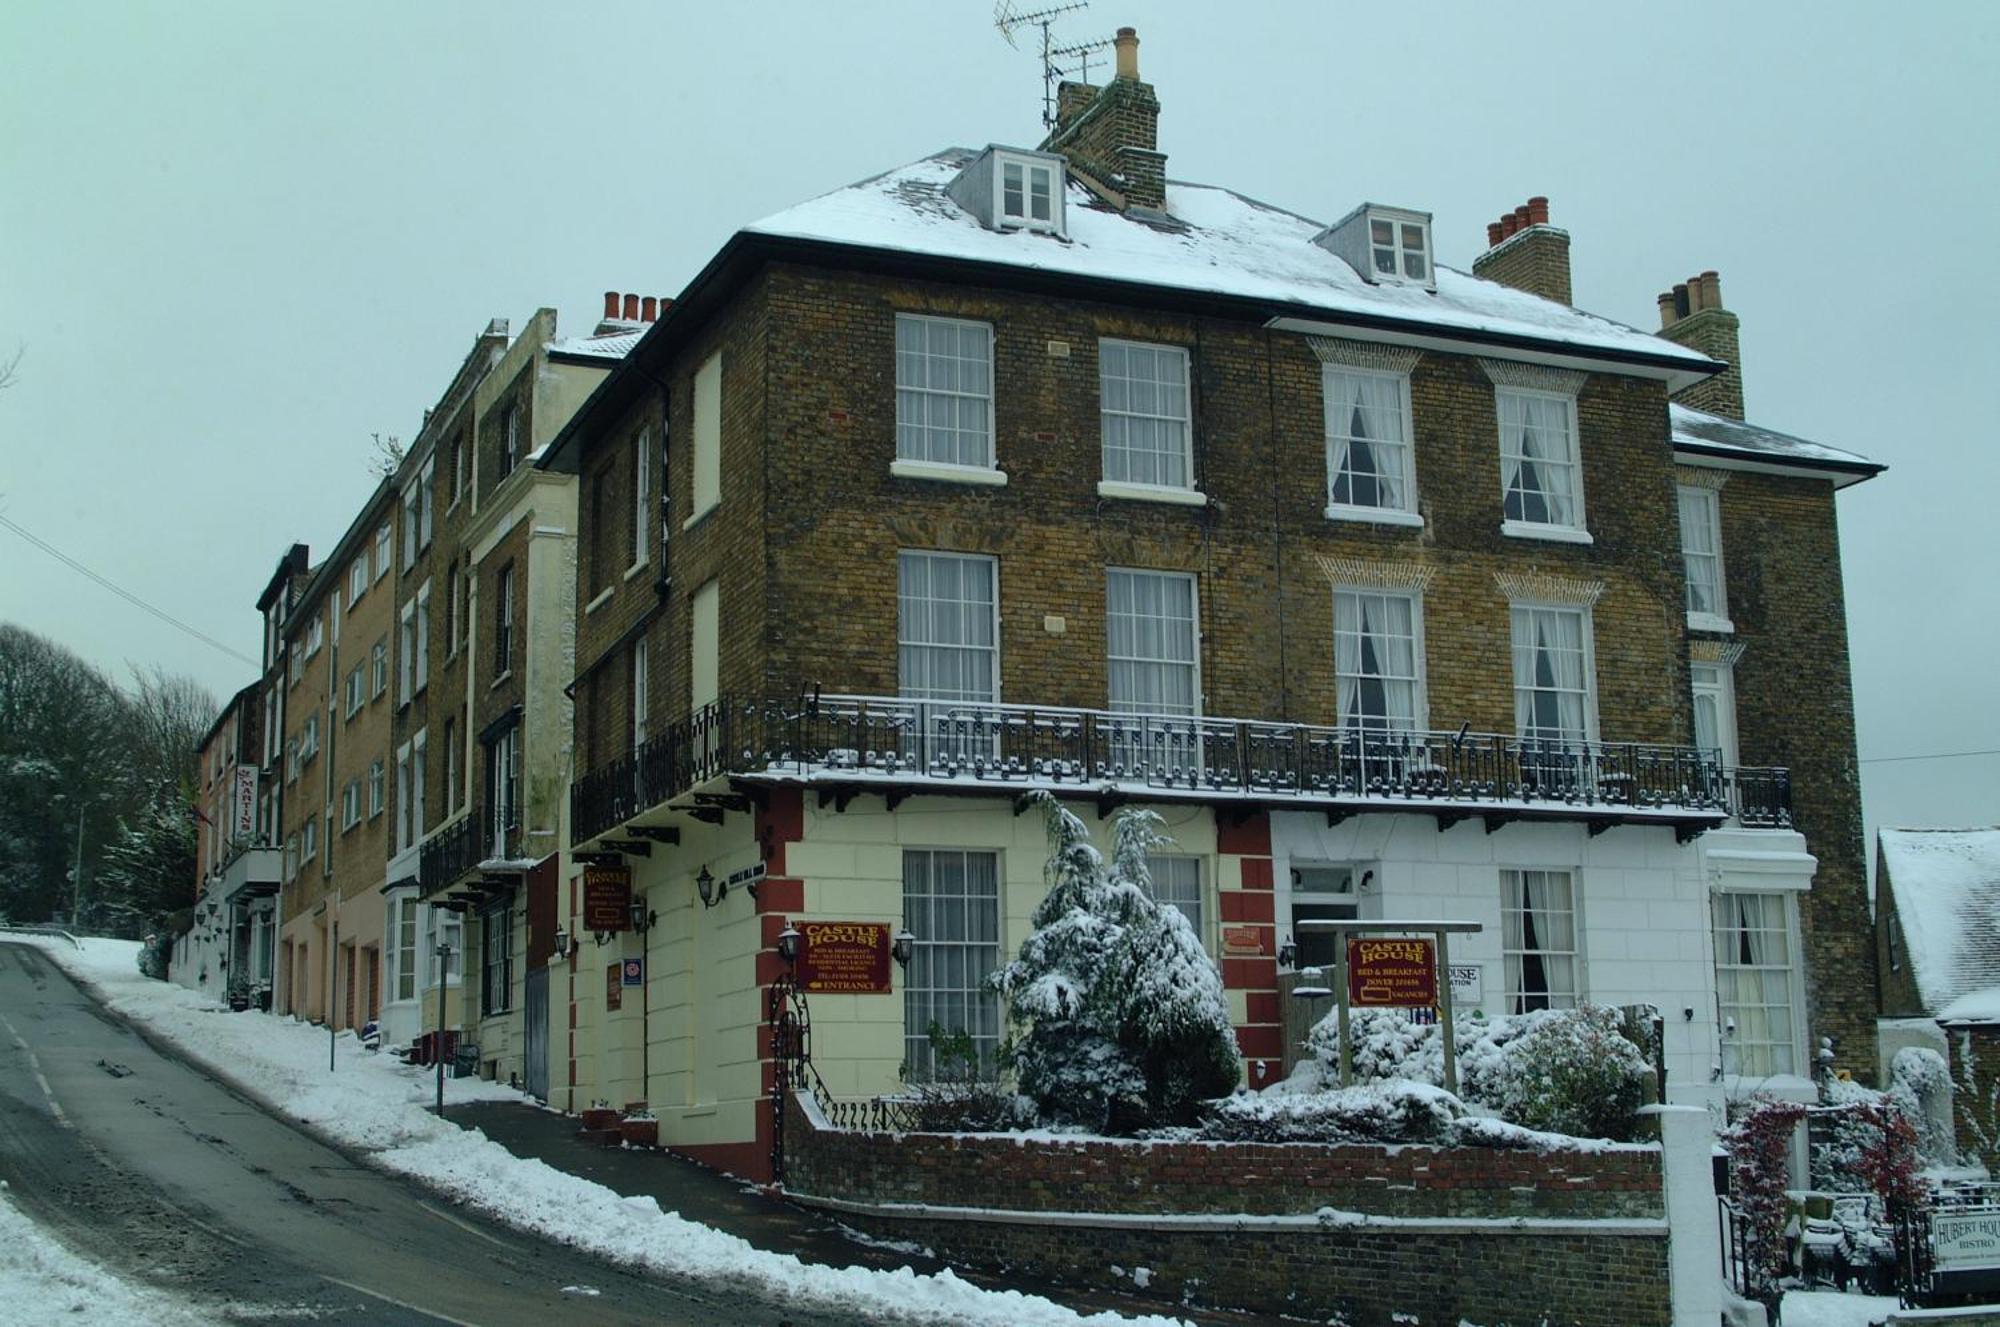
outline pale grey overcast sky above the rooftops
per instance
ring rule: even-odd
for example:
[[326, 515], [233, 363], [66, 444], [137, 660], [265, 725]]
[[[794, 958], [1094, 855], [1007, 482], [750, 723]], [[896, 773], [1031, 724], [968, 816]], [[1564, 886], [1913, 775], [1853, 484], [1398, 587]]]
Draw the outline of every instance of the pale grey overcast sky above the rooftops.
[[[1870, 821], [2000, 821], [2000, 6], [1096, 0], [1060, 32], [1118, 24], [1172, 178], [1424, 208], [1460, 268], [1548, 194], [1578, 304], [1648, 330], [1718, 268], [1750, 418], [1890, 466], [1840, 500]], [[254, 656], [278, 554], [338, 540], [370, 434], [410, 438], [488, 318], [588, 330], [792, 202], [1032, 146], [1026, 46], [986, 0], [6, 0], [0, 516]], [[4, 528], [0, 620], [252, 675]], [[1954, 751], [1988, 753], [1892, 759]]]

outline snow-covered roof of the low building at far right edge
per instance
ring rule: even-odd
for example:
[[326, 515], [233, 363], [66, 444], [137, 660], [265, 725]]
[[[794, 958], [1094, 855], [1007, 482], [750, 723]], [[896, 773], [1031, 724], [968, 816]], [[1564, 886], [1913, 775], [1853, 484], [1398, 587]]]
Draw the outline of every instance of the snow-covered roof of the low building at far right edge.
[[1882, 829], [1880, 841], [1924, 1009], [1978, 1017], [1954, 1005], [1984, 995], [1984, 1017], [2000, 1017], [2000, 829]]

